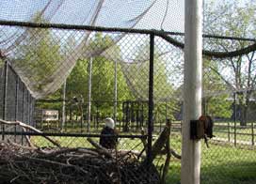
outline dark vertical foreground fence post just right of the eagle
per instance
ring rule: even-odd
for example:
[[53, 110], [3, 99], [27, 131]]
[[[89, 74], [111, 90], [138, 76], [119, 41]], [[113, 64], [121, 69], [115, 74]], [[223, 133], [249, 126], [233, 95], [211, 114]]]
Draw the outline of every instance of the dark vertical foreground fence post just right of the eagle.
[[152, 126], [153, 126], [153, 54], [154, 54], [154, 35], [151, 34], [150, 40], [150, 71], [149, 71], [149, 122], [148, 122], [148, 163], [152, 162]]

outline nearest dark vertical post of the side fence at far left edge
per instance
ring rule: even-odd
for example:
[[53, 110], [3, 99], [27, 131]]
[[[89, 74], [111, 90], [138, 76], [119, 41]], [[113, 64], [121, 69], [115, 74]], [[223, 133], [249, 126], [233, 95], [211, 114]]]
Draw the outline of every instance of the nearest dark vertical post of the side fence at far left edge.
[[[3, 119], [6, 120], [7, 115], [7, 94], [8, 94], [8, 61], [5, 62], [5, 75], [4, 75], [4, 97], [3, 97]], [[5, 125], [2, 125], [2, 140], [5, 140]]]

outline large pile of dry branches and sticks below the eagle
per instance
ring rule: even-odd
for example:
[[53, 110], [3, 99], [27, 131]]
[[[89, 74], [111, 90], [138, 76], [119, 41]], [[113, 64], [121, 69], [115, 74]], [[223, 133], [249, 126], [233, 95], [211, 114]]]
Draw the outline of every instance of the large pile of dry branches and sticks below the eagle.
[[159, 183], [151, 165], [132, 152], [99, 148], [40, 149], [0, 143], [0, 177], [4, 183]]

